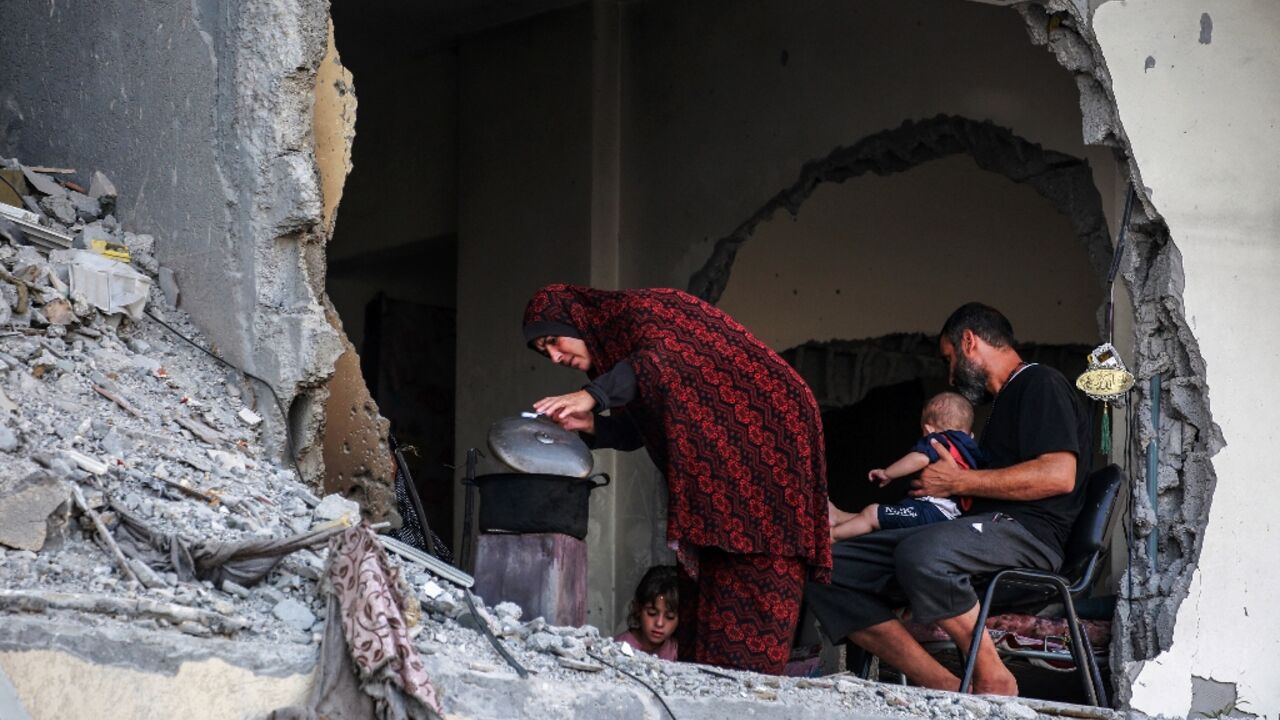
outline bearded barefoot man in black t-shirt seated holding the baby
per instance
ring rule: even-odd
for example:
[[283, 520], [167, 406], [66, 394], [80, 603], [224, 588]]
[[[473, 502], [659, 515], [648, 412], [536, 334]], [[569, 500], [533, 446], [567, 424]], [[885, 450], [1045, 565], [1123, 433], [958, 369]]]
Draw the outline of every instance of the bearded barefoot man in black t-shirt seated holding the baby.
[[[925, 468], [913, 496], [972, 496], [968, 512], [946, 523], [881, 530], [832, 546], [832, 582], [810, 583], [809, 606], [832, 641], [846, 637], [914, 683], [957, 689], [893, 612], [910, 606], [920, 623], [937, 623], [968, 652], [978, 620], [972, 575], [1002, 568], [1056, 570], [1083, 503], [1092, 430], [1084, 404], [1061, 373], [1024, 363], [1000, 311], [970, 302], [947, 318], [938, 341], [951, 384], [979, 402], [993, 396], [979, 447], [983, 470], [951, 455]], [[1018, 684], [983, 634], [974, 692], [1018, 694]]]

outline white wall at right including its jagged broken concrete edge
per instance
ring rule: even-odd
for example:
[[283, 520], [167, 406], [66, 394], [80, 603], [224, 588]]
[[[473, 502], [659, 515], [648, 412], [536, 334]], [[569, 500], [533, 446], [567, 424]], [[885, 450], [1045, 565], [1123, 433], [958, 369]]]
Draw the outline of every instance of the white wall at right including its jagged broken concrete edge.
[[[1158, 565], [1161, 589], [1171, 584], [1170, 594], [1187, 600], [1156, 612], [1161, 652], [1128, 667], [1130, 702], [1185, 715], [1194, 678], [1212, 678], [1235, 684], [1242, 710], [1275, 717], [1280, 579], [1267, 571], [1276, 546], [1267, 519], [1280, 511], [1280, 496], [1265, 469], [1271, 398], [1280, 391], [1271, 372], [1280, 356], [1272, 320], [1280, 311], [1280, 6], [1106, 3], [1092, 29], [1148, 188], [1148, 214], [1167, 227], [1156, 225], [1143, 243], [1148, 261], [1129, 272], [1167, 288], [1147, 304], [1158, 332], [1139, 338], [1151, 343], [1139, 374], [1158, 368], [1172, 384], [1160, 484], [1161, 524], [1175, 520], [1172, 532], [1162, 527]], [[1207, 423], [1206, 382], [1220, 434]], [[1144, 439], [1151, 434], [1143, 428]], [[1185, 547], [1171, 547], [1201, 543], [1198, 565]]]

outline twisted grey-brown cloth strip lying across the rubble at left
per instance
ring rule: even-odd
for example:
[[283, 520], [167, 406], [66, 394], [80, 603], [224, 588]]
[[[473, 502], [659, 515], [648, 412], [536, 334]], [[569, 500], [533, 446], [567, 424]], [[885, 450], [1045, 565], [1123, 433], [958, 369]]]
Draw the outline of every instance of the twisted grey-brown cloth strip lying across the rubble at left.
[[246, 588], [257, 584], [284, 556], [319, 544], [343, 529], [325, 528], [246, 542], [191, 542], [148, 528], [114, 501], [111, 510], [120, 519], [115, 542], [129, 557], [146, 562], [157, 573], [174, 573], [183, 582], [209, 580], [218, 585], [230, 580]]

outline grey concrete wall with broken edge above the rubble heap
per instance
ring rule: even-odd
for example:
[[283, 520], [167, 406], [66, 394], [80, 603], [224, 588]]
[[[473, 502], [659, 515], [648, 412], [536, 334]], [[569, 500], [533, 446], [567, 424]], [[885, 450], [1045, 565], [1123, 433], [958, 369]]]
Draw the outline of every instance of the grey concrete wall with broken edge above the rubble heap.
[[311, 0], [18, 3], [0, 49], [0, 154], [114, 179], [119, 220], [156, 236], [216, 350], [289, 407], [312, 478], [311, 395], [340, 352], [317, 301], [311, 105], [326, 20]]

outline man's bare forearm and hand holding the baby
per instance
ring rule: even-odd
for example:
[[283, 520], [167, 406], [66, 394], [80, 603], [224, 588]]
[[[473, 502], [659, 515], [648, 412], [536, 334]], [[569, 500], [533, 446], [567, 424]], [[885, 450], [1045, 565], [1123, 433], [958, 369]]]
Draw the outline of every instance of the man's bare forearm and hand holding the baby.
[[992, 500], [1044, 500], [1075, 489], [1075, 455], [1046, 452], [997, 470], [965, 470], [937, 441], [938, 461], [911, 482], [911, 495], [948, 497], [969, 495]]

